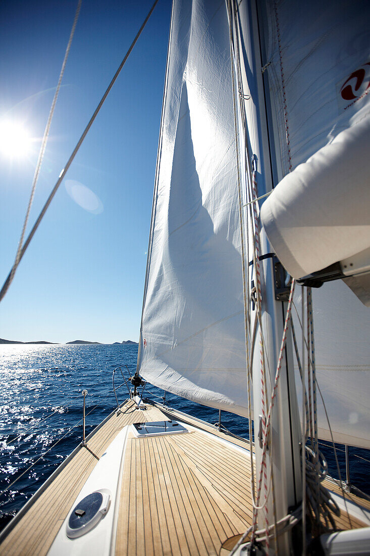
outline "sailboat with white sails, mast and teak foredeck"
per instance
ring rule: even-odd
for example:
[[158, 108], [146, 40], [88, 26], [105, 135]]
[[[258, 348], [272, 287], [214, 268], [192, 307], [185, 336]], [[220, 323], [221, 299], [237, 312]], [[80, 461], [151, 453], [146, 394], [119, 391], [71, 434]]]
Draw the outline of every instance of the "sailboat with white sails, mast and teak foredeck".
[[173, 2], [133, 391], [1, 553], [370, 553], [318, 444], [370, 448], [369, 8]]

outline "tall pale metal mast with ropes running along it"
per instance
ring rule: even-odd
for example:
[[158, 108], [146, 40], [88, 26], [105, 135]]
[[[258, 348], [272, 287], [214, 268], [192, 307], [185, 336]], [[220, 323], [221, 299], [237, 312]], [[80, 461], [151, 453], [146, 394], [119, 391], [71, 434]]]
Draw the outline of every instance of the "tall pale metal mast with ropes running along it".
[[[267, 99], [265, 98], [263, 83], [263, 65], [266, 62], [261, 55], [262, 38], [259, 32], [256, 2], [254, 0], [244, 0], [238, 8], [236, 3], [233, 2], [233, 19], [234, 51], [239, 51], [240, 63], [239, 86], [241, 86], [241, 94], [239, 94], [239, 102], [241, 115], [239, 121], [244, 126], [244, 130], [239, 133], [239, 137], [241, 142], [245, 141], [247, 152], [246, 188], [247, 191], [249, 190], [249, 195], [246, 194], [246, 201], [249, 202], [246, 207], [246, 218], [249, 220], [246, 227], [249, 236], [248, 261], [249, 267], [252, 266], [253, 270], [249, 272], [250, 283], [247, 284], [247, 289], [252, 291], [253, 287], [256, 287], [258, 278], [256, 273], [258, 262], [256, 254], [253, 257], [251, 247], [251, 236], [256, 233], [251, 195], [256, 198], [272, 190], [274, 185], [273, 167], [276, 167], [276, 161], [273, 160], [270, 148], [273, 136], [271, 130], [268, 130]], [[238, 66], [238, 62], [236, 65]], [[259, 209], [256, 207], [255, 216], [257, 217], [258, 212]], [[276, 291], [277, 273], [282, 270], [282, 267], [273, 258], [273, 251], [264, 230], [260, 229], [257, 235], [259, 259], [261, 259], [259, 261], [259, 274], [261, 275], [259, 309], [262, 338], [259, 323], [256, 326], [257, 334], [253, 334], [254, 321], [257, 319], [258, 299], [257, 303], [249, 299], [248, 309], [251, 321], [249, 341], [254, 344], [249, 345], [249, 350], [253, 354], [251, 365], [257, 472], [255, 502], [259, 507], [266, 504], [264, 509], [258, 511], [258, 529], [262, 529], [267, 525], [273, 525], [275, 520], [285, 517], [289, 513], [289, 509], [297, 507], [302, 500], [302, 486], [299, 454], [301, 431], [294, 383], [290, 331], [288, 331], [287, 342], [282, 350], [278, 391], [271, 411], [271, 435], [267, 439], [266, 466], [261, 466], [263, 457], [262, 438], [269, 406], [271, 405], [287, 302], [276, 299], [278, 296]], [[253, 261], [252, 265], [251, 261]], [[280, 294], [280, 296], [287, 299], [287, 292]], [[264, 369], [261, 369], [261, 362]], [[261, 470], [262, 480], [259, 477]], [[259, 488], [261, 493], [258, 495]], [[291, 544], [288, 535], [279, 537], [277, 542], [279, 552], [282, 554], [288, 553]]]

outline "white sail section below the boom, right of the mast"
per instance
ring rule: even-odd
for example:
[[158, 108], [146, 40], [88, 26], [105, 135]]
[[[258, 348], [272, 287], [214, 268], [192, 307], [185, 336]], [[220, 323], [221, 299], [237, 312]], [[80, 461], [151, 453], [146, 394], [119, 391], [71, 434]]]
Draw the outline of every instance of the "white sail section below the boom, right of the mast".
[[[295, 304], [301, 317], [300, 291]], [[317, 382], [332, 429], [318, 392], [318, 436], [331, 441], [332, 432], [336, 442], [370, 449], [369, 309], [342, 280], [328, 282], [312, 293]], [[292, 316], [298, 333], [295, 310]], [[296, 372], [298, 384], [298, 368]]]

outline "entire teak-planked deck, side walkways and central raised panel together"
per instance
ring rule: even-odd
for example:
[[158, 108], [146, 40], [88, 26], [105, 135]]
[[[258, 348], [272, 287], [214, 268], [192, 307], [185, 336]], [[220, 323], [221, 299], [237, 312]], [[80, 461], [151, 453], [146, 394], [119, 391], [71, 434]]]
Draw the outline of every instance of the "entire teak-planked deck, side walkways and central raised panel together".
[[[249, 444], [173, 410], [162, 413], [148, 405], [147, 411], [139, 411], [132, 401], [93, 431], [88, 449], [77, 450], [33, 497], [2, 540], [0, 554], [47, 554], [88, 475], [119, 431], [132, 423], [168, 417], [198, 430], [141, 439], [128, 435], [118, 494], [116, 555], [220, 554], [227, 539], [244, 533], [252, 523], [251, 466], [238, 449], [248, 449]], [[362, 526], [351, 521], [352, 527]], [[346, 515], [337, 523], [349, 528]]]

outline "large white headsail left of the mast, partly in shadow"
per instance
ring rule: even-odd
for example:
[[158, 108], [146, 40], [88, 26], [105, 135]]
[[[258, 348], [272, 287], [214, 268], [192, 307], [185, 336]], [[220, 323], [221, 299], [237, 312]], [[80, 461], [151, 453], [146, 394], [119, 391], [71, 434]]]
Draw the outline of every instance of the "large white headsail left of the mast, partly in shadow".
[[224, 0], [174, 2], [138, 369], [247, 415], [241, 231]]

